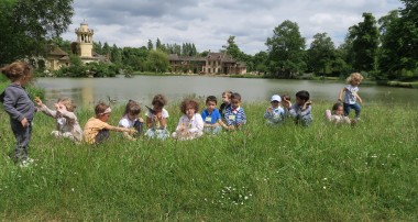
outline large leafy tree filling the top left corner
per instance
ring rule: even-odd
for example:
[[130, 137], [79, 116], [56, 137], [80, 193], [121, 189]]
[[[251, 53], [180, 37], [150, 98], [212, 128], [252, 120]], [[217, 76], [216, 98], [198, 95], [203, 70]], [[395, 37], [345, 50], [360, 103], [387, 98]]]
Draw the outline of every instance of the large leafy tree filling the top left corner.
[[0, 1], [0, 64], [42, 55], [72, 23], [73, 0]]

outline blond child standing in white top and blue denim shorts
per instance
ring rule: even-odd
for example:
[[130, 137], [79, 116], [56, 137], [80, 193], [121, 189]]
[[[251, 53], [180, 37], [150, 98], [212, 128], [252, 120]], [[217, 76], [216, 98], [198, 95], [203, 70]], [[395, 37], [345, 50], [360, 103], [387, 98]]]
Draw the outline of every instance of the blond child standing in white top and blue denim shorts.
[[344, 106], [344, 115], [349, 116], [350, 110], [354, 109], [355, 111], [355, 120], [360, 119], [361, 107], [356, 102], [359, 99], [360, 103], [363, 103], [362, 98], [360, 98], [359, 85], [363, 80], [363, 76], [359, 73], [353, 73], [346, 78], [346, 86], [341, 89], [340, 95], [338, 96], [338, 101], [342, 101], [342, 93], [345, 92], [343, 106]]

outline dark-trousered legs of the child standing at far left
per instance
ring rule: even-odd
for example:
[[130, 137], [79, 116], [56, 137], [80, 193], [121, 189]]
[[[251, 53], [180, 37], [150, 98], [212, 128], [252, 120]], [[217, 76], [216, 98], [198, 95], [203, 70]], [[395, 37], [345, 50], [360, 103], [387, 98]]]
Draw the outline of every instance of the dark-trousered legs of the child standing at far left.
[[11, 122], [13, 134], [16, 138], [14, 148], [14, 163], [28, 159], [29, 142], [31, 141], [32, 124], [23, 127], [19, 121], [12, 120]]

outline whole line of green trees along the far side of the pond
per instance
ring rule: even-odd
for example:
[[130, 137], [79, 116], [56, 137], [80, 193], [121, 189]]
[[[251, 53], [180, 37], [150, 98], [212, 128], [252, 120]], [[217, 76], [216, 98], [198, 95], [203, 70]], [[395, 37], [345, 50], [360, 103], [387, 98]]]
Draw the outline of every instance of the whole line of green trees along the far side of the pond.
[[[220, 48], [244, 62], [249, 71], [275, 78], [296, 78], [305, 73], [316, 76], [344, 77], [362, 71], [374, 79], [418, 79], [418, 3], [400, 0], [404, 8], [393, 10], [376, 20], [364, 12], [363, 21], [348, 30], [344, 42], [338, 47], [328, 33], [317, 33], [310, 45], [300, 35], [296, 22], [286, 20], [274, 27], [267, 37], [267, 51], [245, 54], [230, 36]], [[70, 24], [73, 0], [3, 0], [0, 2], [0, 64], [16, 58], [42, 55], [46, 44], [56, 44], [72, 53], [70, 43], [59, 37]], [[55, 12], [55, 13], [51, 13]], [[4, 34], [3, 34], [4, 33]], [[160, 38], [148, 40], [142, 47], [110, 46], [107, 42], [94, 43], [94, 51], [106, 55], [127, 70], [169, 70], [168, 54], [206, 56], [194, 43], [169, 44]]]

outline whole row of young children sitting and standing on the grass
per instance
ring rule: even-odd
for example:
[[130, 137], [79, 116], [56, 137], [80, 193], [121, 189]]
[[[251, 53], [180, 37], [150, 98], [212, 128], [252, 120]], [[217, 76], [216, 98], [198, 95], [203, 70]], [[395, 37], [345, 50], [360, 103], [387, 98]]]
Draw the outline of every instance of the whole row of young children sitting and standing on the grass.
[[[175, 132], [172, 134], [167, 130], [168, 111], [164, 108], [167, 100], [163, 95], [156, 95], [152, 100], [152, 107], [146, 107], [146, 120], [140, 118], [141, 107], [136, 101], [129, 100], [125, 106], [123, 116], [118, 126], [108, 124], [111, 115], [110, 106], [100, 102], [95, 108], [95, 116], [90, 118], [81, 130], [74, 111], [76, 106], [69, 98], [61, 98], [54, 104], [55, 110], [47, 108], [40, 98], [34, 101], [34, 106], [23, 88], [32, 78], [32, 70], [25, 63], [15, 62], [1, 69], [12, 82], [0, 96], [4, 104], [4, 110], [10, 115], [10, 124], [16, 138], [14, 149], [14, 162], [23, 165], [32, 162], [28, 157], [29, 142], [32, 134], [32, 120], [35, 111], [45, 113], [56, 120], [56, 130], [52, 135], [56, 137], [67, 137], [76, 143], [86, 142], [98, 144], [109, 138], [109, 131], [122, 132], [129, 140], [136, 140], [142, 134], [150, 138], [166, 140], [193, 140], [208, 134], [217, 134], [223, 130], [234, 131], [243, 127], [246, 123], [244, 109], [241, 107], [241, 95], [232, 91], [222, 93], [222, 104], [217, 109], [218, 100], [215, 96], [206, 99], [206, 109], [199, 113], [199, 102], [194, 99], [185, 99], [180, 103], [183, 115], [178, 120]], [[355, 110], [356, 119], [360, 115], [361, 107], [356, 100], [362, 102], [358, 95], [359, 84], [363, 77], [360, 74], [352, 74], [348, 78], [348, 86], [339, 95], [339, 102], [327, 110], [326, 116], [336, 123], [352, 123], [354, 120], [348, 118], [350, 109]], [[343, 103], [342, 95], [345, 92]], [[311, 101], [309, 92], [306, 90], [296, 93], [296, 102], [292, 104], [288, 95], [274, 95], [271, 98], [271, 107], [264, 113], [268, 124], [275, 125], [283, 122], [286, 116], [292, 116], [297, 123], [308, 126], [312, 122]], [[283, 104], [283, 106], [282, 106]]]

